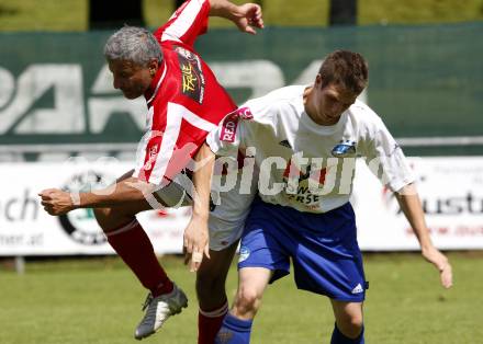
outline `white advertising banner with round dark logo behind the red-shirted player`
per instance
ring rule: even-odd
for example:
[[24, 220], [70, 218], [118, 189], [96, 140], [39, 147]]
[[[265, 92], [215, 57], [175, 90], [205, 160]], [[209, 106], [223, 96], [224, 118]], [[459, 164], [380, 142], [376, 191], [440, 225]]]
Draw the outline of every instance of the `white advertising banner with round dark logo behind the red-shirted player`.
[[[44, 211], [37, 194], [50, 187], [101, 188], [131, 169], [131, 163], [110, 159], [1, 164], [0, 255], [113, 254], [92, 209], [53, 217]], [[138, 220], [156, 252], [178, 253], [190, 214], [189, 207], [150, 210], [139, 214]]]

